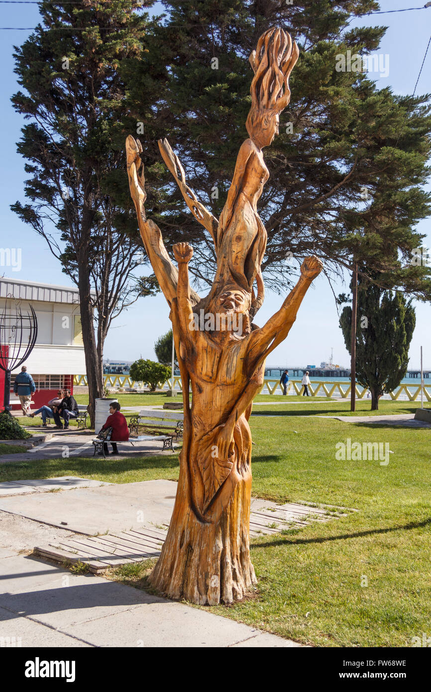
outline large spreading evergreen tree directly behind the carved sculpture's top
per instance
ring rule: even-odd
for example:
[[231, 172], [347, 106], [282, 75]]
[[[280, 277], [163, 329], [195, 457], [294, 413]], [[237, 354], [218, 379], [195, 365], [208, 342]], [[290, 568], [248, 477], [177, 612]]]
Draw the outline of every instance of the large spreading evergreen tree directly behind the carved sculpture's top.
[[[270, 178], [259, 201], [268, 231], [262, 265], [266, 284], [289, 283], [295, 263], [311, 252], [327, 273], [350, 268], [352, 257], [378, 271], [380, 280], [404, 282], [419, 296], [430, 292], [425, 268], [401, 271], [423, 236], [414, 224], [430, 212], [428, 179], [431, 116], [428, 96], [378, 90], [342, 57], [377, 51], [385, 27], [349, 28], [352, 15], [378, 9], [372, 0], [166, 0], [169, 17], [148, 39], [143, 62], [165, 64], [165, 84], [149, 128], [141, 136], [147, 165], [147, 212], [167, 237], [194, 246], [191, 270], [208, 282], [212, 243], [169, 177], [155, 140], [169, 138], [196, 196], [219, 217], [235, 159], [246, 136], [251, 69], [257, 37], [285, 26], [300, 48], [291, 78], [292, 98], [279, 136], [266, 149]], [[355, 63], [358, 66], [358, 63]], [[129, 75], [131, 107], [139, 118], [149, 70]], [[150, 82], [149, 82], [150, 80]], [[152, 208], [151, 205], [153, 205]], [[289, 258], [292, 258], [289, 261]], [[286, 262], [286, 259], [288, 262]]]

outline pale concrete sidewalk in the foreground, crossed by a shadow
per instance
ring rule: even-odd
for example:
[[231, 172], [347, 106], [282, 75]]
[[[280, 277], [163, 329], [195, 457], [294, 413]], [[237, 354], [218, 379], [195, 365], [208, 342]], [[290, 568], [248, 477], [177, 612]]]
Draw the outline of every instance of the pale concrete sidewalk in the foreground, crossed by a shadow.
[[12, 640], [15, 646], [37, 648], [302, 646], [200, 608], [0, 548], [4, 642], [2, 637], [6, 646]]

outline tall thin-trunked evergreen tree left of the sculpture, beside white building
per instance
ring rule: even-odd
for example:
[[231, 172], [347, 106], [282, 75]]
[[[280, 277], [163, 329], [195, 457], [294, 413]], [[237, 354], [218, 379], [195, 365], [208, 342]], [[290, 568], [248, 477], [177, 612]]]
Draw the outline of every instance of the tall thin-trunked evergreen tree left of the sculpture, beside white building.
[[29, 202], [12, 209], [46, 239], [79, 289], [93, 422], [95, 397], [103, 395], [104, 340], [111, 320], [136, 299], [130, 279], [142, 262], [136, 222], [123, 211], [129, 192], [120, 71], [144, 50], [147, 16], [131, 0], [46, 1], [40, 12], [42, 24], [15, 48], [25, 91], [12, 102], [30, 120], [18, 144], [30, 179]]

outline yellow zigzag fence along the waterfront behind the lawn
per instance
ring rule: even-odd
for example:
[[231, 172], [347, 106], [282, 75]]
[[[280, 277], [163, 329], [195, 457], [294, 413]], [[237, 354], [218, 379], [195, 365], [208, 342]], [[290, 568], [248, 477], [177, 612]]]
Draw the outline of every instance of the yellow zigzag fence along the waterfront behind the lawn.
[[[73, 378], [73, 385], [86, 385], [86, 375], [75, 375]], [[142, 382], [135, 382], [128, 375], [105, 375], [104, 376], [105, 387], [112, 387], [113, 389], [140, 389], [143, 386]], [[167, 385], [167, 389], [172, 388], [172, 380], [168, 379], [163, 383], [159, 383], [158, 388], [163, 389]], [[181, 376], [174, 375], [174, 389], [182, 390], [183, 386], [181, 384]], [[277, 390], [283, 391], [282, 385], [279, 380], [265, 380], [260, 394], [276, 394]], [[351, 385], [350, 382], [315, 382], [309, 385], [309, 392], [311, 397], [341, 397], [342, 399], [347, 399], [350, 397]], [[287, 394], [302, 394], [304, 388], [302, 387], [300, 380], [289, 380], [287, 385]], [[367, 394], [367, 388], [362, 385], [356, 385], [356, 398], [363, 399]], [[401, 384], [394, 392], [389, 392], [389, 395], [393, 401], [396, 401], [401, 397], [401, 394], [405, 394], [409, 401], [417, 401], [421, 397], [421, 385], [416, 384]], [[423, 385], [423, 398], [426, 401], [431, 401], [431, 384]]]

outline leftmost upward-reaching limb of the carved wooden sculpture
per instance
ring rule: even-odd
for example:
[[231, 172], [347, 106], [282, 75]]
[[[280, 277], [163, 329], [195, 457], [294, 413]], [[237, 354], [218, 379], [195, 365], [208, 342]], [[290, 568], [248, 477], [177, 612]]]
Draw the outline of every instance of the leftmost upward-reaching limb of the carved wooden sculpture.
[[[145, 199], [147, 199], [147, 193], [145, 192], [144, 165], [140, 159], [141, 152], [142, 146], [140, 141], [135, 141], [129, 135], [126, 140], [126, 154], [131, 199], [133, 199], [135, 204], [140, 235], [143, 239], [145, 251], [170, 306], [172, 300], [176, 298], [178, 271], [167, 254], [160, 228], [154, 224], [154, 221], [147, 219], [145, 216], [144, 203]], [[190, 300], [192, 304], [196, 304], [199, 302], [200, 297], [195, 291], [190, 291]]]

